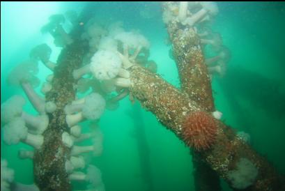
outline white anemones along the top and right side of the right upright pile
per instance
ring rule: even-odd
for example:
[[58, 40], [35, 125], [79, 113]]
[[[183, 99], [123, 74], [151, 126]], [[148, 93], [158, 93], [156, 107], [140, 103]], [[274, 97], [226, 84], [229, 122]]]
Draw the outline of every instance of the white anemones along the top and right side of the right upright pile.
[[163, 13], [165, 24], [170, 22], [180, 22], [187, 28], [192, 28], [200, 37], [201, 46], [210, 45], [216, 56], [206, 59], [210, 77], [218, 75], [222, 77], [226, 70], [226, 62], [229, 61], [229, 49], [222, 45], [222, 37], [219, 33], [213, 33], [209, 30], [207, 22], [213, 19], [219, 12], [217, 5], [213, 1], [181, 1], [169, 2]]

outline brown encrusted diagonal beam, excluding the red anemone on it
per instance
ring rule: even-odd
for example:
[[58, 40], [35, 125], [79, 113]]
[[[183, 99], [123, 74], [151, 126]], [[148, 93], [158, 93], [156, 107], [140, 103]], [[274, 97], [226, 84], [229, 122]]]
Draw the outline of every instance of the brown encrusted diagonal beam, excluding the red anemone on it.
[[[203, 111], [187, 94], [181, 93], [171, 84], [165, 82], [140, 66], [130, 68], [132, 86], [130, 93], [137, 98], [146, 110], [153, 112], [158, 121], [181, 138], [182, 123], [190, 112]], [[259, 169], [259, 175], [249, 190], [282, 190], [284, 184], [265, 158], [242, 142], [231, 128], [213, 118], [217, 123], [215, 143], [208, 150], [199, 152], [201, 159], [230, 183], [226, 174], [235, 169], [240, 158], [251, 160]], [[283, 179], [283, 177], [282, 177]]]

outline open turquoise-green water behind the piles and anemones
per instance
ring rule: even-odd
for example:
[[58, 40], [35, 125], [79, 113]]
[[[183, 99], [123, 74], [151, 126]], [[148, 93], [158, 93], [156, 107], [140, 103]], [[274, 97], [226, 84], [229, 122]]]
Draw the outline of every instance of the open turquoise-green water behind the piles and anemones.
[[[8, 85], [6, 77], [28, 58], [31, 48], [47, 43], [53, 50], [51, 60], [56, 61], [61, 48], [55, 47], [52, 36], [40, 33], [49, 15], [70, 9], [79, 13], [84, 5], [1, 2], [1, 103], [15, 94], [25, 96], [19, 87]], [[248, 132], [252, 147], [284, 174], [285, 3], [217, 5], [219, 14], [212, 28], [230, 49], [231, 60], [224, 77], [213, 77], [215, 105], [223, 113], [222, 120], [238, 131]], [[151, 43], [150, 59], [157, 63], [157, 73], [179, 87], [177, 68], [169, 57], [171, 47], [165, 43], [167, 29], [160, 3], [97, 3], [94, 13], [102, 22], [123, 21], [126, 31], [138, 29]], [[70, 27], [66, 25], [66, 29]], [[42, 82], [52, 73], [42, 64], [39, 71], [37, 76]], [[40, 93], [40, 87], [36, 91]], [[24, 110], [36, 114], [29, 102]], [[138, 131], [138, 126], [143, 130]], [[146, 190], [148, 186], [152, 190], [194, 190], [189, 148], [138, 103], [132, 105], [128, 98], [121, 100], [118, 109], [106, 110], [101, 116], [100, 128], [104, 135], [103, 153], [98, 158], [88, 158], [88, 162], [101, 170], [106, 190]], [[144, 140], [143, 144], [139, 139]], [[17, 158], [19, 148], [29, 147], [7, 146], [1, 137], [1, 158], [15, 170], [15, 181], [31, 184], [32, 161]], [[80, 186], [75, 183], [75, 187]], [[224, 183], [223, 187], [229, 190]]]

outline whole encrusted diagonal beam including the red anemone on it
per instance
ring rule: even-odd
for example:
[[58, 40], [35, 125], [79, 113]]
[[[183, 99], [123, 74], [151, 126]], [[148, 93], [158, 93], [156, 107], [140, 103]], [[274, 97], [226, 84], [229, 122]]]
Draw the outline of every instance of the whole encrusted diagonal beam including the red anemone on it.
[[204, 112], [186, 93], [181, 93], [158, 75], [140, 66], [132, 66], [129, 70], [132, 96], [187, 146], [196, 148], [203, 161], [229, 185], [233, 185], [229, 174], [236, 169], [241, 158], [247, 158], [258, 169], [249, 190], [285, 188], [282, 183], [284, 177], [278, 176], [265, 158], [242, 142], [231, 128], [209, 112]]

